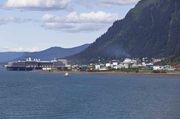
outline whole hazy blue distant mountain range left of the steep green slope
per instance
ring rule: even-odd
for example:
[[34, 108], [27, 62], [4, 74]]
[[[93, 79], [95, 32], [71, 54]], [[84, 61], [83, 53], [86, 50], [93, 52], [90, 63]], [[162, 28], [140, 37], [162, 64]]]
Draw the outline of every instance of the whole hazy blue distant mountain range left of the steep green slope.
[[0, 63], [17, 59], [25, 59], [28, 57], [37, 58], [41, 60], [53, 60], [55, 58], [63, 58], [80, 53], [81, 51], [85, 50], [88, 46], [89, 44], [85, 44], [74, 48], [52, 47], [39, 52], [0, 52]]

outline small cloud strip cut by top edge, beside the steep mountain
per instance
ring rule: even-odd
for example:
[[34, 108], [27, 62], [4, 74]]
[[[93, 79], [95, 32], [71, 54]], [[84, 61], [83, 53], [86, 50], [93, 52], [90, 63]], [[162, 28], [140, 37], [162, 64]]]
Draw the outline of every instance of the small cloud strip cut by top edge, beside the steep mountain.
[[127, 5], [127, 4], [135, 4], [140, 0], [100, 0], [102, 4], [105, 5]]

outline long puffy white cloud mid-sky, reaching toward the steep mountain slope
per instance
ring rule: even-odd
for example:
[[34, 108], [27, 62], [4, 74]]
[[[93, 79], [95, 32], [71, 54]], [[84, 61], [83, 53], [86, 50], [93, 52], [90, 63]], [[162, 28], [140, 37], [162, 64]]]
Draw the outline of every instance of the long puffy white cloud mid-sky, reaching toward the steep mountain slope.
[[78, 14], [72, 12], [67, 16], [43, 16], [43, 26], [47, 29], [78, 32], [94, 31], [109, 27], [115, 20], [119, 19], [117, 14], [106, 12], [89, 12]]

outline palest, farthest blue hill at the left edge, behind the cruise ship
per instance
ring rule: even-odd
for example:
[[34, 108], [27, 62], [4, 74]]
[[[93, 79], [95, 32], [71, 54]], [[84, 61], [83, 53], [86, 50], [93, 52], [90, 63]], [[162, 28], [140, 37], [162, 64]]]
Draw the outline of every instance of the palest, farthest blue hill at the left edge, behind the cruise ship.
[[25, 52], [0, 52], [0, 63], [5, 63], [13, 59], [22, 57]]

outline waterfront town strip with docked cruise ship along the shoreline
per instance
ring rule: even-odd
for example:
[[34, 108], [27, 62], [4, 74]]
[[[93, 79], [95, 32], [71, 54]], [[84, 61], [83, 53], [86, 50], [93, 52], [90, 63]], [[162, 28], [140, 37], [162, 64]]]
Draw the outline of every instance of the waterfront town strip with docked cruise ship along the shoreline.
[[125, 58], [124, 60], [110, 60], [106, 63], [98, 62], [86, 65], [71, 65], [66, 59], [57, 59], [51, 61], [41, 61], [40, 59], [31, 58], [25, 61], [9, 62], [6, 65], [8, 70], [44, 70], [44, 71], [89, 71], [89, 72], [104, 72], [104, 71], [175, 71], [180, 70], [180, 66], [171, 65], [155, 65], [161, 59], [148, 58]]

